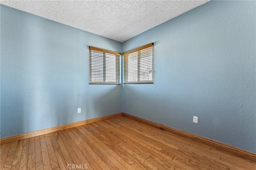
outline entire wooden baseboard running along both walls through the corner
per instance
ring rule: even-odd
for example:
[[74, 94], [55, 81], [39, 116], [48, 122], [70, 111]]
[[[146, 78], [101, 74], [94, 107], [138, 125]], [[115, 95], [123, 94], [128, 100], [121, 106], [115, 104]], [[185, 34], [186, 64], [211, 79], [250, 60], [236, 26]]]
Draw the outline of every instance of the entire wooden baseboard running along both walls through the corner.
[[202, 144], [207, 144], [208, 146], [212, 146], [212, 147], [217, 148], [219, 150], [223, 150], [223, 151], [229, 152], [231, 154], [234, 154], [234, 155], [240, 156], [242, 158], [246, 158], [246, 159], [249, 159], [249, 160], [252, 160], [252, 161], [256, 162], [256, 154], [253, 153], [253, 152], [243, 150], [243, 149], [240, 149], [240, 148], [236, 148], [236, 147], [230, 146], [228, 144], [223, 144], [221, 142], [217, 142], [217, 141], [211, 140], [209, 138], [198, 136], [196, 134], [192, 134], [192, 133], [188, 133], [188, 132], [185, 132], [185, 131], [182, 131], [182, 130], [171, 128], [171, 127], [168, 127], [166, 125], [161, 125], [159, 123], [148, 121], [146, 119], [142, 119], [140, 117], [132, 116], [132, 115], [129, 115], [129, 114], [126, 114], [126, 113], [116, 113], [116, 114], [113, 114], [113, 115], [107, 115], [107, 116], [98, 117], [98, 118], [94, 118], [94, 119], [88, 119], [88, 120], [85, 120], [85, 121], [70, 123], [70, 124], [61, 125], [61, 126], [58, 126], [58, 127], [46, 128], [46, 129], [36, 130], [36, 131], [33, 131], [33, 132], [24, 133], [24, 134], [9, 136], [9, 137], [5, 137], [5, 138], [1, 138], [0, 139], [0, 144], [15, 142], [15, 141], [23, 140], [23, 139], [26, 139], [26, 138], [32, 138], [32, 137], [35, 137], [35, 136], [40, 136], [40, 135], [43, 135], [43, 134], [57, 132], [59, 130], [64, 130], [64, 129], [67, 129], [67, 128], [78, 127], [78, 126], [81, 126], [81, 125], [86, 125], [86, 124], [89, 124], [89, 123], [103, 121], [103, 120], [106, 120], [106, 119], [111, 119], [111, 118], [119, 117], [119, 116], [128, 117], [128, 118], [136, 120], [138, 122], [142, 122], [142, 123], [145, 123], [147, 125], [151, 125], [153, 127], [160, 128], [162, 130], [166, 130], [168, 132], [177, 134], [179, 136], [183, 136], [185, 138], [195, 140], [195, 141], [200, 142]]

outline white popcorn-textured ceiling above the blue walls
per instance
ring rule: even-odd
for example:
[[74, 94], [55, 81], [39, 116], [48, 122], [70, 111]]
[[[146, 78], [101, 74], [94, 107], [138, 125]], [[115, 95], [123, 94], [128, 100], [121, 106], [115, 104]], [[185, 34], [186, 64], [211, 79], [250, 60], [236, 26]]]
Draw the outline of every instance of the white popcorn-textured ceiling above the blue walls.
[[124, 42], [209, 0], [1, 0], [0, 3]]

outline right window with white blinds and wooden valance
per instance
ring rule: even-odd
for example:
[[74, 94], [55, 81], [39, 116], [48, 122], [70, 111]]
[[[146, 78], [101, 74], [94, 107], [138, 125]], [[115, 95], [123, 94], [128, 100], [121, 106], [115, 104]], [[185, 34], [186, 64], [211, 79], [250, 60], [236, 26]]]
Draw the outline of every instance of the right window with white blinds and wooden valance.
[[123, 53], [124, 83], [154, 83], [154, 43]]

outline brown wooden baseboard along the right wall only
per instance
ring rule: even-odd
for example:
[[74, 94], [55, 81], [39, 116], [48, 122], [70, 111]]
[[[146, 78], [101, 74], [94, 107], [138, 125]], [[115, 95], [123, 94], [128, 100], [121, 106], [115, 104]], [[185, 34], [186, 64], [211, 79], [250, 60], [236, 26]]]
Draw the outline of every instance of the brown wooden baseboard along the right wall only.
[[207, 144], [208, 146], [212, 146], [212, 147], [217, 148], [219, 150], [223, 150], [223, 151], [229, 152], [231, 154], [234, 154], [234, 155], [240, 156], [242, 158], [246, 158], [246, 159], [249, 159], [249, 160], [252, 160], [252, 161], [256, 162], [256, 154], [253, 153], [253, 152], [243, 150], [243, 149], [240, 149], [240, 148], [236, 148], [234, 146], [230, 146], [228, 144], [217, 142], [215, 140], [211, 140], [209, 138], [198, 136], [196, 134], [188, 133], [188, 132], [185, 132], [185, 131], [182, 131], [182, 130], [178, 130], [178, 129], [171, 128], [171, 127], [168, 127], [168, 126], [165, 126], [165, 125], [161, 125], [159, 123], [148, 121], [146, 119], [142, 119], [140, 117], [132, 116], [132, 115], [129, 115], [129, 114], [126, 114], [126, 113], [122, 113], [122, 116], [128, 117], [130, 119], [133, 119], [133, 120], [136, 120], [136, 121], [139, 121], [139, 122], [142, 122], [142, 123], [145, 123], [147, 125], [151, 125], [153, 127], [160, 128], [162, 130], [166, 130], [166, 131], [174, 133], [174, 134], [178, 134], [179, 136], [183, 136], [185, 138], [195, 140], [195, 141], [200, 142], [202, 144]]

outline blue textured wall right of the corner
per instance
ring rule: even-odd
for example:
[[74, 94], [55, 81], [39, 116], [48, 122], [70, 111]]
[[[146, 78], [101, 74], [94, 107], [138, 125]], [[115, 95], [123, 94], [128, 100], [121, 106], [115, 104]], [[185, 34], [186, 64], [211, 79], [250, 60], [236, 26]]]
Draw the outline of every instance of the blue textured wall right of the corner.
[[123, 85], [122, 112], [256, 152], [256, 2], [210, 1], [122, 52], [150, 42], [154, 84]]

